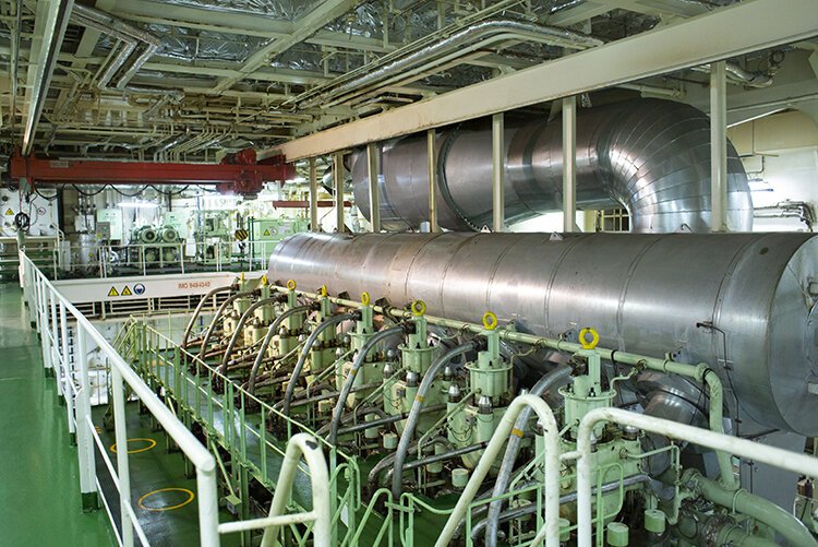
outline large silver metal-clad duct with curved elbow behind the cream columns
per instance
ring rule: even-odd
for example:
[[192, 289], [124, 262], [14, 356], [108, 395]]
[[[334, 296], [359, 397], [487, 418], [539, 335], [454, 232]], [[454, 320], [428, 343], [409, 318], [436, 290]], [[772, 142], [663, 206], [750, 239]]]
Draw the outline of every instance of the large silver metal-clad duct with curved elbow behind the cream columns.
[[[505, 215], [509, 223], [562, 207], [562, 123], [506, 127]], [[381, 222], [417, 229], [428, 221], [426, 136], [381, 145]], [[492, 218], [490, 128], [437, 135], [437, 217], [442, 227], [479, 229]], [[352, 164], [356, 201], [369, 216], [366, 154]], [[710, 119], [682, 103], [637, 99], [577, 114], [577, 205], [624, 207], [634, 231], [710, 228]], [[727, 143], [727, 225], [753, 228], [742, 162]]]

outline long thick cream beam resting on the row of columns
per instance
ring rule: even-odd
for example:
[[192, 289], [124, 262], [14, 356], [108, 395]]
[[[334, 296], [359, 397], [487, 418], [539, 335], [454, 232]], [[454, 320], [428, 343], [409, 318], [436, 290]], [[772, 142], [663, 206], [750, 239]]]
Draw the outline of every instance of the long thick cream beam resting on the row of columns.
[[[742, 32], [735, 32], [741, 28]], [[818, 35], [815, 0], [749, 0], [278, 147], [288, 159], [424, 131]]]

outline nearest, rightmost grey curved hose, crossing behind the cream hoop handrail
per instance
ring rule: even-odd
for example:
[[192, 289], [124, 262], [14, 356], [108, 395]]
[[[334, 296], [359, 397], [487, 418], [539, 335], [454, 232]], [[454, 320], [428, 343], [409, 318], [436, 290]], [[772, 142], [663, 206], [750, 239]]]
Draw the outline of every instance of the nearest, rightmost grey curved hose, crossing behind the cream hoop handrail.
[[[549, 373], [541, 377], [537, 383], [531, 388], [531, 394], [542, 396], [543, 393], [552, 389], [558, 382], [570, 377], [572, 369], [566, 365], [560, 365], [557, 368], [551, 370]], [[528, 420], [531, 418], [531, 407], [526, 406], [517, 417], [517, 421], [514, 425], [512, 435], [508, 436], [508, 444], [506, 444], [506, 452], [503, 455], [503, 462], [500, 465], [497, 472], [497, 479], [494, 483], [494, 491], [492, 497], [496, 498], [502, 496], [508, 489], [508, 483], [512, 479], [512, 472], [514, 471], [514, 463], [517, 461], [517, 455], [520, 453], [520, 442], [522, 437], [515, 435], [516, 431], [524, 431], [528, 425]], [[503, 510], [503, 500], [498, 499], [492, 501], [489, 506], [489, 516], [486, 516], [485, 526], [485, 546], [496, 547], [497, 545], [497, 528], [500, 526], [500, 513]]]

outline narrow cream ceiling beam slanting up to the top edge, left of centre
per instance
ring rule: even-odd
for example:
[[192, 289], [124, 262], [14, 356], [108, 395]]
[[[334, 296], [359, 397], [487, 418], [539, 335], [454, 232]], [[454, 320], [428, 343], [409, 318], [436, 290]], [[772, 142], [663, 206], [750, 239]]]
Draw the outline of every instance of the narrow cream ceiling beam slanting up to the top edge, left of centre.
[[318, 32], [321, 27], [332, 23], [358, 5], [360, 1], [361, 0], [324, 0], [318, 8], [310, 11], [310, 13], [294, 23], [292, 34], [286, 38], [273, 40], [269, 45], [250, 56], [244, 66], [239, 69], [240, 74], [221, 79], [216, 87], [213, 88], [213, 93], [219, 93], [222, 90], [227, 90], [234, 83], [249, 76], [264, 67], [272, 57], [282, 53], [292, 46], [304, 41], [306, 38]]

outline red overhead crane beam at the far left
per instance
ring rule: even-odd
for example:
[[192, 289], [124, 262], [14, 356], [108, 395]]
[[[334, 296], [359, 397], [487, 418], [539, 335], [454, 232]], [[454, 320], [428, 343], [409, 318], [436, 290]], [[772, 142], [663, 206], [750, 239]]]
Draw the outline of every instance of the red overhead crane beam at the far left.
[[296, 167], [284, 156], [257, 163], [255, 151], [245, 150], [220, 164], [166, 164], [149, 162], [98, 162], [24, 157], [15, 151], [9, 159], [12, 180], [24, 178], [32, 188], [49, 185], [215, 185], [219, 192], [256, 194], [264, 182], [296, 177]]

